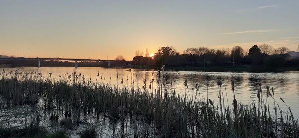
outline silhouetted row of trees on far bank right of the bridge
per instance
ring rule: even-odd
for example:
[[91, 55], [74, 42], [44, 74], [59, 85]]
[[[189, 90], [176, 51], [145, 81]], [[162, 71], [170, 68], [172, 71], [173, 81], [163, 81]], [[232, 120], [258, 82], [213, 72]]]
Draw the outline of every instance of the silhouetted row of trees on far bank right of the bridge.
[[248, 52], [240, 46], [229, 49], [209, 49], [207, 47], [187, 48], [183, 54], [179, 54], [175, 48], [161, 47], [155, 56], [143, 57], [137, 55], [132, 62], [135, 66], [264, 66], [282, 67], [299, 66], [299, 59], [292, 59], [288, 48], [274, 49], [268, 44], [252, 46]]

